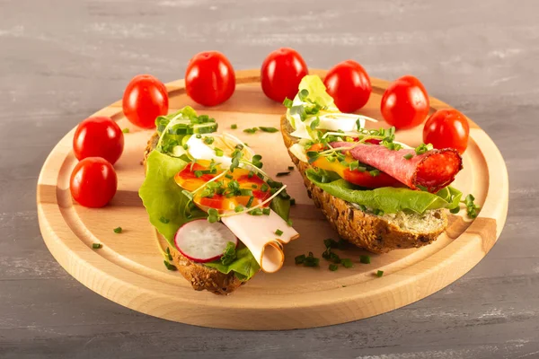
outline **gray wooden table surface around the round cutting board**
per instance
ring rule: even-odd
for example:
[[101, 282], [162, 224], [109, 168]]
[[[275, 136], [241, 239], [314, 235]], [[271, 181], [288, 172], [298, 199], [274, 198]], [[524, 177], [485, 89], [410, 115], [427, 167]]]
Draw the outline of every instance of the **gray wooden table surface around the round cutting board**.
[[[539, 357], [538, 11], [533, 0], [0, 0], [0, 357]], [[54, 144], [135, 74], [181, 78], [206, 49], [253, 68], [281, 46], [312, 67], [354, 58], [376, 77], [415, 74], [483, 127], [510, 180], [508, 221], [490, 254], [397, 311], [286, 332], [155, 319], [69, 276], [36, 215]]]

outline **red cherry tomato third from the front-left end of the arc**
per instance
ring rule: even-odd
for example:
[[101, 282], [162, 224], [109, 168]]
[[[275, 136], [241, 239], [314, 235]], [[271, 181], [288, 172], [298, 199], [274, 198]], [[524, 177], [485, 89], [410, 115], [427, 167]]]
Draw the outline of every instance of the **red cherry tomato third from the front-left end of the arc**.
[[168, 92], [150, 74], [139, 74], [128, 83], [122, 101], [124, 115], [132, 124], [154, 128], [155, 118], [168, 112]]

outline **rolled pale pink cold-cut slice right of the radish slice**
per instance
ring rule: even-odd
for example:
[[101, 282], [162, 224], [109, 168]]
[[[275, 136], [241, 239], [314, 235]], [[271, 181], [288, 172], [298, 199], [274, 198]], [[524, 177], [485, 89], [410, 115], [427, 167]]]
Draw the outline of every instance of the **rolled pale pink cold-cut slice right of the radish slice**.
[[[270, 215], [233, 215], [223, 217], [221, 221], [251, 250], [261, 269], [267, 273], [283, 267], [282, 245], [299, 237], [299, 233], [273, 211]], [[277, 235], [277, 230], [283, 233]]]

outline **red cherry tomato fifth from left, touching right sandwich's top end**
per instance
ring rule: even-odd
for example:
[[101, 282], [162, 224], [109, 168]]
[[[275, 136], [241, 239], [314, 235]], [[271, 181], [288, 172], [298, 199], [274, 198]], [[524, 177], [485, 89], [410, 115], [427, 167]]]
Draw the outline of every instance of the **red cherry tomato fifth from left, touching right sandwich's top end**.
[[262, 91], [273, 101], [294, 99], [301, 79], [308, 73], [305, 60], [294, 48], [279, 48], [262, 63]]

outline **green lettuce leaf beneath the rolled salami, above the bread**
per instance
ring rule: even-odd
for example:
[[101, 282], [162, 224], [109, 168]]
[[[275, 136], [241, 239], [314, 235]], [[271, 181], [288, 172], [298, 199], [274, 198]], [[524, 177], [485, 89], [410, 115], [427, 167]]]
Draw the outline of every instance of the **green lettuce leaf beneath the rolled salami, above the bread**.
[[459, 206], [462, 197], [462, 193], [458, 189], [450, 187], [440, 190], [437, 194], [410, 188], [358, 189], [357, 186], [346, 180], [331, 179], [326, 181], [320, 172], [313, 169], [307, 170], [306, 175], [316, 186], [331, 196], [368, 208], [379, 209], [386, 214], [394, 214], [403, 210], [422, 214], [428, 209], [452, 209]]

